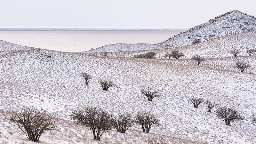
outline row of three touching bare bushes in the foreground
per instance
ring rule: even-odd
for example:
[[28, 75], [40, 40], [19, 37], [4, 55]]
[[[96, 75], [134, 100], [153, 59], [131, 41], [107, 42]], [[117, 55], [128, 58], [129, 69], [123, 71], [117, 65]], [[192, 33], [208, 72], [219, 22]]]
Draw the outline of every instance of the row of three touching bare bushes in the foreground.
[[70, 116], [74, 124], [91, 129], [95, 140], [100, 140], [102, 135], [113, 129], [125, 133], [135, 124], [141, 125], [143, 132], [149, 132], [154, 125], [160, 126], [158, 117], [150, 112], [137, 112], [135, 116], [131, 113], [114, 115], [102, 108], [88, 106], [81, 110], [74, 110]]

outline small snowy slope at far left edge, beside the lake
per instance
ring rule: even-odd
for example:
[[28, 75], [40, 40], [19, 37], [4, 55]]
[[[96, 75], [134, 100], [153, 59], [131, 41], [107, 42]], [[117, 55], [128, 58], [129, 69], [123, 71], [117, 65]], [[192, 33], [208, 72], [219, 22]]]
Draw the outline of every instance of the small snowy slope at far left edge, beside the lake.
[[12, 44], [12, 43], [0, 40], [0, 51], [19, 51], [19, 50], [30, 50], [30, 49], [34, 49], [34, 48], [21, 46], [18, 44]]

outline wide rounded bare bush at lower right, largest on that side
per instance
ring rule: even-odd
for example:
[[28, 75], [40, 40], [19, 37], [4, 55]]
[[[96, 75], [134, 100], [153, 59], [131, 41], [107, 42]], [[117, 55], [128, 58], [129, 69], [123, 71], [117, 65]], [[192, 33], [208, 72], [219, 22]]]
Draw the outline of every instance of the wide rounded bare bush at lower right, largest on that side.
[[227, 107], [220, 107], [217, 112], [216, 116], [221, 120], [225, 121], [226, 125], [230, 125], [230, 123], [234, 121], [243, 120], [243, 116], [241, 116], [236, 109], [227, 108]]

